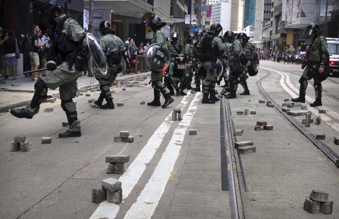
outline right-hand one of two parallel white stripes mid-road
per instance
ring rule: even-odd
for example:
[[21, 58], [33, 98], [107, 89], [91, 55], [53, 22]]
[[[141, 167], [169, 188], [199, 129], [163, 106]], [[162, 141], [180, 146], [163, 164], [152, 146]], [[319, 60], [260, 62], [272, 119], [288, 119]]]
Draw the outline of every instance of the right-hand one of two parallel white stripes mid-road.
[[162, 154], [161, 159], [149, 179], [148, 183], [140, 193], [137, 201], [126, 213], [124, 219], [151, 218], [159, 200], [165, 190], [168, 178], [171, 176], [174, 164], [180, 154], [181, 146], [184, 142], [187, 128], [189, 127], [196, 112], [201, 93], [198, 93], [191, 102], [184, 120], [180, 121], [178, 127], [174, 130], [170, 143]]

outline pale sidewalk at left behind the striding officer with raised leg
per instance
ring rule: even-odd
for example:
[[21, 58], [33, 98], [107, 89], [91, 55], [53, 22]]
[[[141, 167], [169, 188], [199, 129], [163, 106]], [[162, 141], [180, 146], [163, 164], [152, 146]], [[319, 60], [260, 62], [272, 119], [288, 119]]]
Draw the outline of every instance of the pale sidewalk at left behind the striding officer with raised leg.
[[[134, 73], [133, 75], [122, 75], [121, 73], [117, 76], [118, 81], [129, 81], [137, 79], [138, 77], [150, 76], [151, 72]], [[27, 105], [34, 93], [34, 83], [31, 82], [30, 78], [25, 76], [17, 76], [16, 80], [13, 80], [10, 76], [8, 79], [0, 77], [0, 81], [6, 83], [0, 83], [0, 113], [8, 112], [10, 109], [16, 107], [22, 107]], [[77, 79], [78, 90], [83, 89], [95, 89], [99, 87], [99, 82], [94, 77], [87, 75], [81, 75]], [[48, 95], [52, 97], [59, 97], [59, 88], [56, 90], [50, 90]]]

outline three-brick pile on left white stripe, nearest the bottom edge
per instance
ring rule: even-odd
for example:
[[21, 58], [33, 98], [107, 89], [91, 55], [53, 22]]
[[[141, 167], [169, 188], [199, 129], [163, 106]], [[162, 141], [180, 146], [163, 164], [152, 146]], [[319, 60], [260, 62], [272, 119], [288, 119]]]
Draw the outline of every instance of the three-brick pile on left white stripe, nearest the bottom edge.
[[122, 202], [121, 182], [114, 178], [108, 178], [101, 181], [101, 185], [92, 188], [92, 201], [100, 203], [107, 202], [120, 204]]

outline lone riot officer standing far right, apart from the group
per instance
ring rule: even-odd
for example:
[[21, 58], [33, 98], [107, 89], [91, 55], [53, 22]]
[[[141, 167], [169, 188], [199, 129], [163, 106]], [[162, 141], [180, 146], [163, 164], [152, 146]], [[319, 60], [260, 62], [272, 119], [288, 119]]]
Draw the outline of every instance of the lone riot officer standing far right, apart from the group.
[[[301, 76], [299, 83], [299, 97], [293, 98], [291, 101], [305, 103], [306, 88], [308, 85], [308, 80], [313, 78], [314, 80], [314, 91], [315, 91], [315, 101], [310, 104], [312, 107], [322, 106], [321, 102], [321, 92], [322, 85], [321, 81], [326, 79], [328, 75], [327, 69], [325, 66], [328, 66], [328, 52], [327, 52], [327, 42], [326, 38], [321, 35], [322, 29], [319, 28], [317, 24], [311, 23], [307, 26], [304, 31], [304, 35], [311, 36], [312, 42], [309, 50], [306, 53], [307, 65], [304, 67], [303, 75]], [[324, 72], [325, 70], [325, 72]]]

